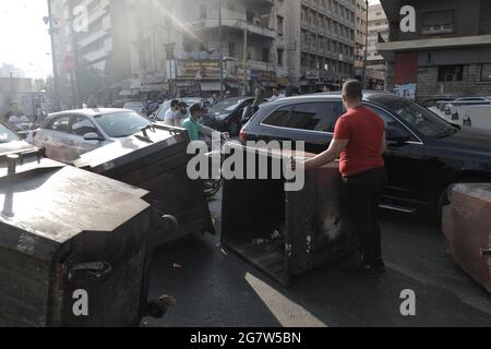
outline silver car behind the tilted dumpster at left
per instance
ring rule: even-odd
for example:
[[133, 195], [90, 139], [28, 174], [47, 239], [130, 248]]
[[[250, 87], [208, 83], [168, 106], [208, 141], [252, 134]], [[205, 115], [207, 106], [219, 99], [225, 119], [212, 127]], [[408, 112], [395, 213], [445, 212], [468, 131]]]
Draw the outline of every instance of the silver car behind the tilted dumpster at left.
[[81, 155], [141, 132], [151, 122], [128, 109], [83, 109], [50, 115], [34, 133], [46, 156], [73, 163]]

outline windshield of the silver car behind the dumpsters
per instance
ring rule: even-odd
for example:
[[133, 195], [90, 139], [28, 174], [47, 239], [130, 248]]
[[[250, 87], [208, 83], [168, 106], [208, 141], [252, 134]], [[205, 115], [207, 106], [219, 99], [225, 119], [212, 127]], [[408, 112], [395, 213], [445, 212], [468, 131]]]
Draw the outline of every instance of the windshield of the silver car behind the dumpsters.
[[136, 112], [113, 112], [95, 117], [97, 123], [110, 137], [128, 137], [151, 124], [148, 120]]

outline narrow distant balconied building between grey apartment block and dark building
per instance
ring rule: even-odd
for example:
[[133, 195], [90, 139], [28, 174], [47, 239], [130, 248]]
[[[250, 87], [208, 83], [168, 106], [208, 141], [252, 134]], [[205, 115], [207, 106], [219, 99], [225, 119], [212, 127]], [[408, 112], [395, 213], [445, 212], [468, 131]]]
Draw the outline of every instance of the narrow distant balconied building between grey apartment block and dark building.
[[382, 5], [375, 4], [369, 7], [367, 51], [367, 87], [369, 89], [385, 87], [385, 60], [376, 48], [379, 40], [388, 40], [388, 21]]

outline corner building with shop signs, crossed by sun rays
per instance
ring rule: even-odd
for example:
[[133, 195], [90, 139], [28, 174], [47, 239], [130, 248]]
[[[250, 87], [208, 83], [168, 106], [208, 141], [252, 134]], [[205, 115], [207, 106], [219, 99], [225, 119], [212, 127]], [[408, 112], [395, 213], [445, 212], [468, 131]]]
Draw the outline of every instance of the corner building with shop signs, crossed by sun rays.
[[266, 87], [282, 83], [278, 77], [286, 75], [285, 1], [160, 0], [153, 3], [166, 23], [161, 43], [166, 47], [166, 73], [172, 92], [202, 96], [219, 93], [219, 3], [225, 88], [232, 95], [242, 95], [251, 94], [255, 81]]

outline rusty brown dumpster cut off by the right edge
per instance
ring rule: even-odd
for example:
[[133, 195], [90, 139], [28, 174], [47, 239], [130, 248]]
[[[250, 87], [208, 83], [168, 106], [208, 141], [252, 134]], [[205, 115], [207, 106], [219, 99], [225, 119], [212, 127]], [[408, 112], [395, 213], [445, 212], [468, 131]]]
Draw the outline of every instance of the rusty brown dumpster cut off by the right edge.
[[457, 184], [443, 212], [455, 263], [491, 292], [491, 184]]

